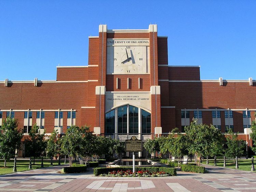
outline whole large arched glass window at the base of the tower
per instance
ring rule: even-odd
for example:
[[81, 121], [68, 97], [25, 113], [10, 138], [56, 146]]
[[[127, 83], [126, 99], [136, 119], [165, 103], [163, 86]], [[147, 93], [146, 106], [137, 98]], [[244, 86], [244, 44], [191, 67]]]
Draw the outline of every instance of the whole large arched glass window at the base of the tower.
[[125, 140], [130, 135], [151, 138], [151, 114], [132, 105], [117, 107], [105, 114], [105, 135]]

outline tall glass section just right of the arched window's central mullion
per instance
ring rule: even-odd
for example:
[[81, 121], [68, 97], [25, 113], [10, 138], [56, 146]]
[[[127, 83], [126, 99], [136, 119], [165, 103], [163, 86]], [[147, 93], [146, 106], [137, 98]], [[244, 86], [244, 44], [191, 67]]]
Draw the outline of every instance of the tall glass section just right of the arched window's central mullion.
[[139, 133], [139, 108], [129, 105], [129, 133]]

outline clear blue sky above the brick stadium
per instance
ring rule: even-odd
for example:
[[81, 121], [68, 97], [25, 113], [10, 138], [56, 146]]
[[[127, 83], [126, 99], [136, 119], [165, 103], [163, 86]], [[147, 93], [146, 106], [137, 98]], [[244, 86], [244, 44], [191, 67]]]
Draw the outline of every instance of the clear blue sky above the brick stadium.
[[88, 36], [158, 25], [169, 65], [200, 65], [201, 79], [256, 78], [256, 1], [0, 0], [0, 79], [56, 79], [87, 65]]

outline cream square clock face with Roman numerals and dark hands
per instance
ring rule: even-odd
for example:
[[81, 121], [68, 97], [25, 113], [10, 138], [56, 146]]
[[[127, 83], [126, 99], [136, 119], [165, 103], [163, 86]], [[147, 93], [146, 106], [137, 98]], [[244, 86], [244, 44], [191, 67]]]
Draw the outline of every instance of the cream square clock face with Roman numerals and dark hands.
[[107, 74], [147, 74], [149, 46], [107, 46]]

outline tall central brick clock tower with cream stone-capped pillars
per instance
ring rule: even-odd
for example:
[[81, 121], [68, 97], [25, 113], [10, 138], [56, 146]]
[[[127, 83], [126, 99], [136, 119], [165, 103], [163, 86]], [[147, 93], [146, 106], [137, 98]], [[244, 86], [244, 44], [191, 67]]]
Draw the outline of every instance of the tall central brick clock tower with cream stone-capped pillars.
[[157, 25], [145, 30], [100, 25], [99, 37], [89, 38], [89, 44], [98, 43], [99, 53], [96, 134], [120, 140], [162, 134], [157, 41]]

